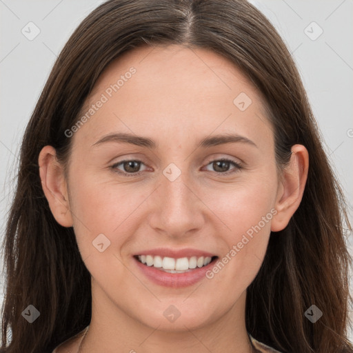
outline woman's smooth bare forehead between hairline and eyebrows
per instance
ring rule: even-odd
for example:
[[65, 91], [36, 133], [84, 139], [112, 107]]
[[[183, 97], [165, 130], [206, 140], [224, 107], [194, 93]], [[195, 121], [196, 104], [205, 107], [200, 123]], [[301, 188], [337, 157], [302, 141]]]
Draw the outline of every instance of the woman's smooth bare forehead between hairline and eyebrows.
[[[143, 46], [110, 63], [81, 115], [90, 139], [113, 130], [159, 134], [163, 139], [212, 132], [256, 134], [270, 129], [261, 94], [236, 66], [203, 48]], [[90, 115], [90, 114], [88, 114]], [[81, 132], [80, 132], [81, 134]]]

